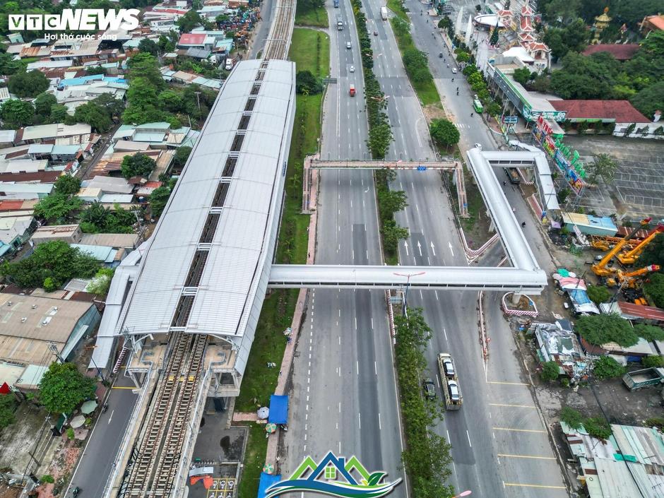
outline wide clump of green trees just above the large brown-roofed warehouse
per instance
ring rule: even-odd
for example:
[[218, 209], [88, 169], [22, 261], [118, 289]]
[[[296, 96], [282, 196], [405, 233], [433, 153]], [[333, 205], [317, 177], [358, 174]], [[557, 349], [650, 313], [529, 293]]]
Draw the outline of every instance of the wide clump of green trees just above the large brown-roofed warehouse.
[[71, 278], [90, 278], [97, 268], [99, 263], [92, 256], [57, 240], [39, 244], [20, 261], [3, 263], [0, 274], [19, 287], [39, 287], [49, 277], [59, 287]]

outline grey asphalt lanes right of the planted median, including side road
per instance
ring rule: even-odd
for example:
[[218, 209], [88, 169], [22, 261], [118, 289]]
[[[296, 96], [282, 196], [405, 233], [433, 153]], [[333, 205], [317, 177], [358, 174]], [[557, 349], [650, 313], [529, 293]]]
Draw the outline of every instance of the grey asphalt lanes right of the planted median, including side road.
[[[407, 2], [412, 11], [417, 5]], [[408, 84], [389, 23], [379, 17], [380, 6], [379, 0], [365, 2], [369, 29], [379, 30], [377, 40], [374, 38], [374, 68], [381, 87], [389, 95], [388, 114], [395, 138], [389, 158], [432, 158], [422, 110]], [[457, 79], [452, 67], [446, 67], [446, 61], [437, 57], [446, 49], [431, 21], [426, 23], [426, 16], [415, 15], [413, 23], [418, 48], [435, 54], [429, 59], [430, 66], [445, 107], [461, 131], [462, 150], [474, 143], [494, 149], [490, 131], [470, 107], [470, 88]], [[393, 188], [403, 189], [409, 204], [396, 216], [398, 223], [410, 230], [410, 237], [399, 246], [401, 264], [466, 265], [439, 174], [399, 172]], [[451, 352], [464, 394], [463, 408], [449, 413], [436, 427], [453, 447], [452, 482], [457, 490], [470, 489], [473, 496], [479, 497], [534, 497], [543, 490], [547, 497], [567, 496], [545, 428], [533, 408], [527, 381], [514, 354], [511, 332], [499, 312], [497, 297], [487, 295], [485, 303], [492, 331], [486, 369], [478, 343], [477, 292], [418, 291], [409, 297], [411, 307], [424, 308], [432, 327], [427, 351], [431, 377], [439, 383], [435, 362], [438, 352]], [[441, 391], [438, 393], [441, 396]]]

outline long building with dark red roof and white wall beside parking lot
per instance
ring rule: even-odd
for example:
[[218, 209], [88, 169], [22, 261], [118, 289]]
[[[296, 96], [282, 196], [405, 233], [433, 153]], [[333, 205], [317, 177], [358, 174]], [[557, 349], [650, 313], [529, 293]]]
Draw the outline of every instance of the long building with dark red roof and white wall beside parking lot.
[[[612, 134], [624, 136], [629, 131], [630, 138], [664, 138], [661, 123], [653, 123], [641, 112], [637, 111], [628, 100], [550, 100], [557, 111], [567, 114], [575, 129], [579, 123], [586, 123], [588, 130], [598, 130], [598, 123], [613, 124]], [[656, 130], [661, 128], [656, 133]], [[610, 128], [609, 128], [610, 129]]]

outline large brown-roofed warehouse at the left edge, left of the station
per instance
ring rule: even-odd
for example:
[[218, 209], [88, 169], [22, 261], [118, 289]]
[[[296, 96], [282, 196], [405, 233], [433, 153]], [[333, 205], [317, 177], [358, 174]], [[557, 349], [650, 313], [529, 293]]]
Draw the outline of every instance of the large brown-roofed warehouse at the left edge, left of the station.
[[0, 307], [0, 361], [24, 368], [21, 384], [25, 389], [36, 389], [55, 360], [52, 345], [64, 360], [71, 359], [101, 318], [91, 302], [52, 297], [0, 292]]

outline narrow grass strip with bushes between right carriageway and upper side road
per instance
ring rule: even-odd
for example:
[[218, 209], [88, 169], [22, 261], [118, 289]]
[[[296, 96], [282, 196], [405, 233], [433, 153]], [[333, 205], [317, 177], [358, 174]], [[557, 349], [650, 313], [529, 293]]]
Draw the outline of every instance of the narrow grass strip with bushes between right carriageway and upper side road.
[[[399, 0], [395, 0], [399, 1]], [[440, 95], [434, 84], [434, 77], [429, 70], [427, 55], [415, 47], [410, 36], [410, 23], [401, 18], [391, 18], [390, 23], [396, 37], [396, 45], [401, 53], [401, 60], [410, 84], [413, 85], [422, 105], [440, 104]]]

